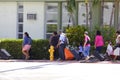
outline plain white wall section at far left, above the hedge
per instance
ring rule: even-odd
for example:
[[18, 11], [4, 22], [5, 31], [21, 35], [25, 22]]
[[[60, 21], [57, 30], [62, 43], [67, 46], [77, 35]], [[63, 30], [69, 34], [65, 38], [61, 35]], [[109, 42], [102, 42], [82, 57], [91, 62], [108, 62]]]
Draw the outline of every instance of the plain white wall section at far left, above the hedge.
[[17, 3], [0, 2], [0, 38], [16, 38]]

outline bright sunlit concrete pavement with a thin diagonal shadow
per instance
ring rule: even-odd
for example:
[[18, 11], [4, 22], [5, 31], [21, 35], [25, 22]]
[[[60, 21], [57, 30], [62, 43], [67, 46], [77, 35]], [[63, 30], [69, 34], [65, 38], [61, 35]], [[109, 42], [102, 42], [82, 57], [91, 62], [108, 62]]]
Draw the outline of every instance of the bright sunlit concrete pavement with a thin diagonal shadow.
[[118, 80], [118, 62], [0, 60], [0, 80]]

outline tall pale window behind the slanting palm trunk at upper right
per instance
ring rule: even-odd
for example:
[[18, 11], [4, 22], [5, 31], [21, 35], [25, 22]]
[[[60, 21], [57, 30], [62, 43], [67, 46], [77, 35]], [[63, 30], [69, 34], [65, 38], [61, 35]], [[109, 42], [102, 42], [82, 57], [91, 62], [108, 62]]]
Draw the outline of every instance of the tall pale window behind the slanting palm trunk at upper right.
[[103, 10], [103, 25], [110, 25], [112, 18], [112, 25], [114, 25], [114, 12], [112, 15], [113, 3], [112, 2], [104, 2], [104, 10]]

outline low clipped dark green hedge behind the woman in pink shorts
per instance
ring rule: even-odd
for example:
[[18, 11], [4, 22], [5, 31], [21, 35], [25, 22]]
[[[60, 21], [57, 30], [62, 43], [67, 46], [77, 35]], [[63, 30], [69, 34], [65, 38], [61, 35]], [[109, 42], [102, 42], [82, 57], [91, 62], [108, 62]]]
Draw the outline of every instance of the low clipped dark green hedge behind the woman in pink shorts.
[[[32, 59], [49, 59], [48, 40], [33, 40], [30, 55]], [[22, 59], [22, 40], [1, 40], [0, 48], [6, 49], [14, 59]]]

